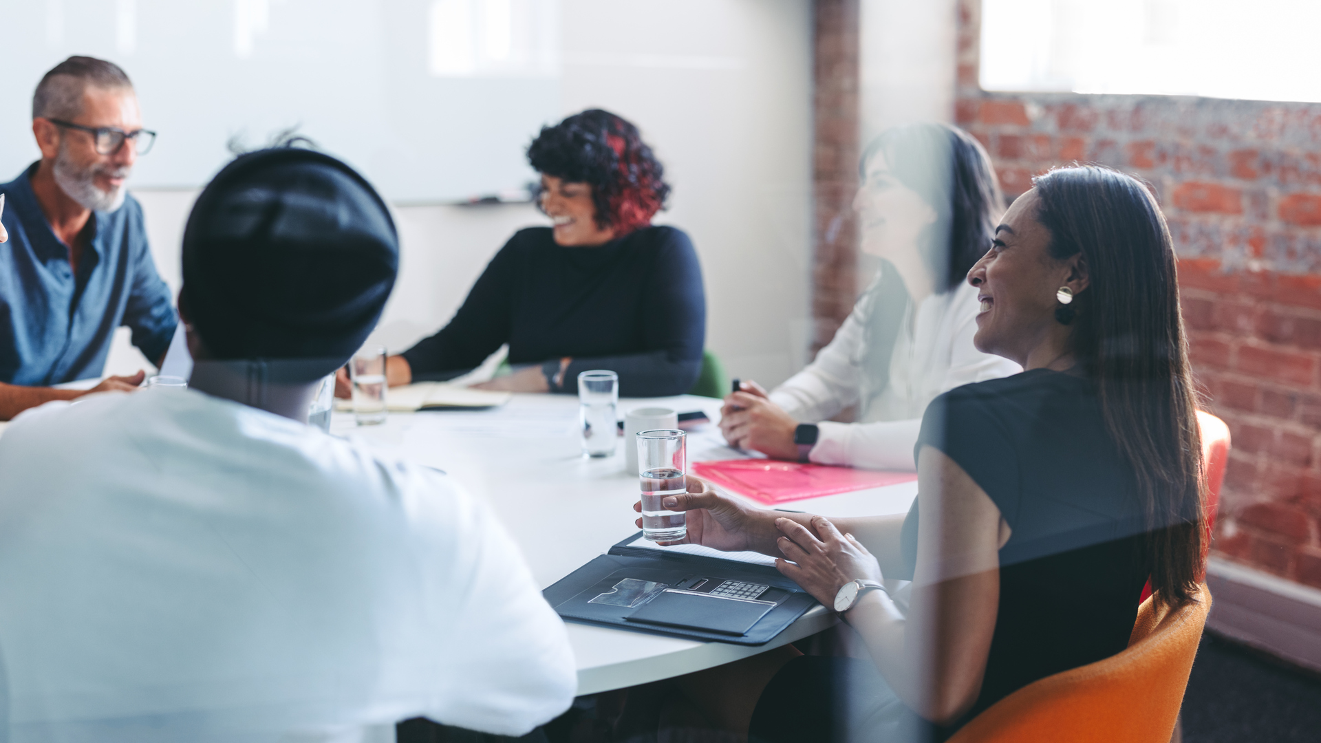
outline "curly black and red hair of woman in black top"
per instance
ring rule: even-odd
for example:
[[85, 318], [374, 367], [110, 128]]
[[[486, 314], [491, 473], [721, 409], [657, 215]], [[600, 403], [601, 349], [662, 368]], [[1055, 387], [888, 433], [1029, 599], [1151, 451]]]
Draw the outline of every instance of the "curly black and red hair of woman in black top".
[[651, 223], [664, 209], [664, 168], [642, 141], [638, 127], [600, 108], [542, 127], [527, 147], [536, 172], [592, 186], [596, 225], [624, 235]]

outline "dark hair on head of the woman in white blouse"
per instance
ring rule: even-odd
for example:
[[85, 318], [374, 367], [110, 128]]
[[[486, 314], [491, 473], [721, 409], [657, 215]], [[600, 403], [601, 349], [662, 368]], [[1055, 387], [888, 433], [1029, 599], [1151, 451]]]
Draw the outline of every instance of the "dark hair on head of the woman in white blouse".
[[991, 249], [1004, 196], [991, 157], [968, 132], [948, 124], [909, 124], [867, 145], [857, 169], [884, 153], [890, 173], [915, 190], [938, 215], [921, 250], [935, 268], [937, 290], [952, 290]]

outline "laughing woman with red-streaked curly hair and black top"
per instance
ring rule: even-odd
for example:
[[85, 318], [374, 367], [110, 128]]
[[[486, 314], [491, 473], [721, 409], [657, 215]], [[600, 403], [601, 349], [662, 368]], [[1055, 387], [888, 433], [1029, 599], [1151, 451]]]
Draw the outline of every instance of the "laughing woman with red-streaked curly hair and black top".
[[509, 344], [514, 373], [480, 385], [576, 393], [610, 369], [620, 394], [676, 395], [701, 373], [707, 303], [683, 231], [653, 226], [670, 186], [638, 128], [597, 108], [527, 148], [550, 227], [519, 230], [435, 336], [390, 358], [391, 385], [450, 378]]

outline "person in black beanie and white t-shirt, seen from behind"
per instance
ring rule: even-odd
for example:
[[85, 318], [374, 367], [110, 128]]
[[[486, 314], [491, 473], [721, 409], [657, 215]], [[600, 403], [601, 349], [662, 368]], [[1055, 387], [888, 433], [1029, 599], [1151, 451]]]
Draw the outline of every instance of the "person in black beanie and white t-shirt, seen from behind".
[[444, 473], [308, 426], [399, 264], [347, 165], [227, 165], [184, 234], [189, 389], [50, 402], [0, 438], [11, 743], [522, 735], [573, 698], [518, 547]]

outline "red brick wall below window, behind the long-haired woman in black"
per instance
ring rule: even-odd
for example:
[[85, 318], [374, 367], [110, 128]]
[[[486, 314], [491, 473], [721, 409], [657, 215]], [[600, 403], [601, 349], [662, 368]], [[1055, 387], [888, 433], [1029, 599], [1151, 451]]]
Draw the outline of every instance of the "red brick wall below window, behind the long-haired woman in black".
[[1232, 435], [1213, 549], [1321, 587], [1321, 104], [984, 93], [979, 16], [960, 0], [956, 122], [1009, 196], [1073, 161], [1152, 184], [1193, 368]]

